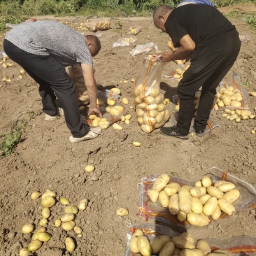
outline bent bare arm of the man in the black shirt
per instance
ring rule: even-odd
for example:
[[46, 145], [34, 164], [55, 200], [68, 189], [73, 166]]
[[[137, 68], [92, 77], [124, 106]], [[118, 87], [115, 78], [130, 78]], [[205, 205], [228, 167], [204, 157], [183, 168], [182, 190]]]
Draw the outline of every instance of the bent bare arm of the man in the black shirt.
[[175, 52], [162, 52], [164, 62], [171, 62], [174, 59], [191, 59], [196, 44], [189, 35], [180, 39], [180, 47]]

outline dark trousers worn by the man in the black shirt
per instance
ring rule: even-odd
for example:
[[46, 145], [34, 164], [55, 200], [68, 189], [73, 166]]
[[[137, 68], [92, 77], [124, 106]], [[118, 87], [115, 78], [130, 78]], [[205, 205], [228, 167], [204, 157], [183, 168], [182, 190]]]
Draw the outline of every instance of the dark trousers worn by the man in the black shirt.
[[180, 133], [187, 134], [190, 130], [194, 118], [194, 96], [200, 87], [202, 87], [201, 97], [197, 116], [194, 118], [194, 126], [197, 131], [205, 129], [216, 88], [232, 68], [239, 55], [240, 47], [239, 34], [237, 31], [232, 31], [225, 34], [217, 43], [194, 50], [190, 67], [178, 83], [178, 97], [180, 98], [178, 129]]

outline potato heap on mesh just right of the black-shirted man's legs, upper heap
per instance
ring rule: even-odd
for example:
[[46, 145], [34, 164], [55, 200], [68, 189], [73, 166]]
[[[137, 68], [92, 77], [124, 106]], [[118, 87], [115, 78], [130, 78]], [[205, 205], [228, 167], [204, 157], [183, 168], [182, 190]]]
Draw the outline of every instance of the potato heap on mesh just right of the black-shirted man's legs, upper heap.
[[221, 87], [220, 91], [215, 95], [215, 110], [223, 107], [241, 108], [243, 104], [243, 95], [239, 89], [233, 86], [227, 88]]

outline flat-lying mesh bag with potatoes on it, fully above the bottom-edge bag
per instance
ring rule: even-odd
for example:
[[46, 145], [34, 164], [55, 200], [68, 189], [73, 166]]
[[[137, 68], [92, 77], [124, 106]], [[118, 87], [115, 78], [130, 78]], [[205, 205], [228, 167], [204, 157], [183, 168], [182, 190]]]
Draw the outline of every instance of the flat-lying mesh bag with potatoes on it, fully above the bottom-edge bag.
[[196, 182], [167, 173], [141, 180], [139, 211], [145, 220], [206, 227], [237, 211], [256, 208], [256, 190], [250, 183], [215, 167]]

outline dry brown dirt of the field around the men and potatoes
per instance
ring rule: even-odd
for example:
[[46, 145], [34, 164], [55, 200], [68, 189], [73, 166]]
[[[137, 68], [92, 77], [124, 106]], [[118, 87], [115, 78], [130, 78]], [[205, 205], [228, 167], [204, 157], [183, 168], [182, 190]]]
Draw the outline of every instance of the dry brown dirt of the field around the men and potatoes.
[[[255, 6], [229, 6], [221, 11], [256, 11]], [[85, 17], [37, 17], [55, 19], [78, 27]], [[243, 90], [256, 90], [256, 34], [243, 20], [230, 19], [240, 34], [249, 34], [251, 41], [242, 43], [241, 52], [232, 71], [239, 73]], [[128, 36], [129, 27], [139, 24], [142, 31], [136, 36], [137, 44], [153, 42], [159, 50], [167, 50], [168, 36], [157, 30], [150, 17], [111, 19], [111, 29], [102, 31], [102, 50], [94, 57], [95, 78], [99, 90], [118, 87], [122, 97], [127, 97], [132, 106], [132, 79], [141, 71], [145, 54], [131, 57], [129, 51], [134, 45], [112, 48], [113, 42]], [[76, 25], [74, 25], [76, 24]], [[119, 25], [118, 25], [119, 24]], [[122, 27], [120, 27], [120, 24]], [[1, 33], [0, 41], [4, 34]], [[0, 46], [1, 47], [1, 46]], [[2, 48], [0, 48], [2, 50]], [[164, 66], [163, 73], [176, 64]], [[229, 71], [225, 80], [232, 80]], [[141, 131], [136, 122], [134, 109], [131, 124], [122, 125], [118, 131], [110, 127], [102, 136], [83, 143], [69, 143], [69, 130], [64, 117], [46, 122], [41, 111], [38, 85], [26, 73], [19, 79], [20, 66], [4, 69], [0, 66], [0, 134], [7, 134], [13, 123], [27, 113], [34, 113], [22, 141], [15, 148], [16, 154], [0, 157], [0, 255], [15, 256], [31, 241], [30, 234], [22, 234], [22, 225], [41, 220], [40, 199], [32, 201], [31, 192], [45, 192], [50, 189], [57, 193], [57, 199], [66, 197], [77, 205], [81, 199], [89, 199], [85, 211], [76, 216], [76, 224], [82, 227], [83, 237], [77, 238], [72, 232], [64, 232], [53, 225], [64, 207], [59, 203], [52, 207], [48, 232], [52, 238], [44, 243], [33, 255], [40, 256], [108, 256], [124, 255], [127, 226], [143, 224], [138, 215], [138, 199], [141, 178], [152, 174], [170, 175], [195, 181], [209, 172], [213, 166], [228, 171], [253, 186], [256, 186], [256, 134], [250, 131], [256, 127], [256, 120], [231, 122], [222, 118], [223, 111], [215, 111], [211, 118], [218, 123], [203, 138], [190, 136], [187, 141], [168, 138], [156, 129], [151, 134]], [[8, 77], [11, 83], [2, 82]], [[123, 83], [127, 80], [128, 83]], [[177, 93], [178, 82], [162, 78], [161, 92], [170, 98]], [[256, 97], [248, 97], [251, 110], [256, 107]], [[172, 104], [166, 107], [174, 113]], [[254, 111], [254, 113], [256, 113]], [[170, 121], [166, 123], [169, 125]], [[134, 147], [133, 141], [141, 141], [141, 147]], [[87, 164], [93, 164], [95, 171], [85, 173]], [[125, 207], [129, 215], [118, 218], [115, 211]], [[215, 225], [202, 229], [187, 228], [197, 239], [227, 239], [234, 236], [256, 234], [255, 210], [240, 211], [236, 215], [218, 220]], [[185, 227], [186, 228], [186, 227]], [[65, 250], [66, 236], [76, 239], [76, 250]]]

